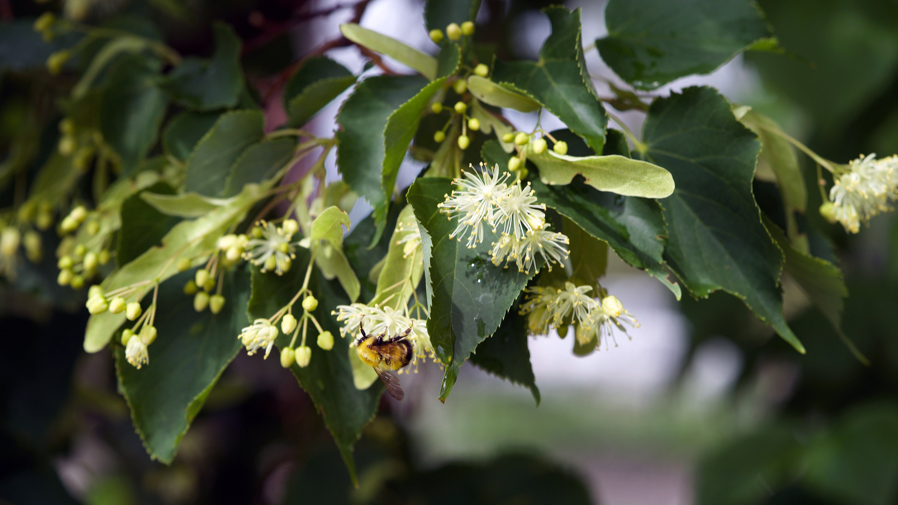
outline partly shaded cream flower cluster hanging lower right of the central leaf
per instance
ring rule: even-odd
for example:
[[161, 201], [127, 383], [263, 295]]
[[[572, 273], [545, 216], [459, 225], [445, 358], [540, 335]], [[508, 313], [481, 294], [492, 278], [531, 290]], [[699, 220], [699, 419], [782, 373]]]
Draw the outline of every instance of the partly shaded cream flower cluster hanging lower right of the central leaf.
[[[528, 315], [527, 324], [533, 335], [545, 335], [549, 329], [559, 329], [565, 335], [568, 325], [576, 326], [577, 342], [581, 345], [602, 343], [603, 336], [613, 337], [612, 327], [627, 333], [623, 324], [639, 327], [639, 322], [623, 308], [621, 300], [609, 295], [601, 301], [586, 293], [592, 286], [576, 286], [565, 283], [565, 289], [552, 287], [528, 288], [527, 298], [521, 307], [521, 314]], [[563, 331], [562, 331], [563, 329]], [[606, 346], [607, 346], [607, 340]]]

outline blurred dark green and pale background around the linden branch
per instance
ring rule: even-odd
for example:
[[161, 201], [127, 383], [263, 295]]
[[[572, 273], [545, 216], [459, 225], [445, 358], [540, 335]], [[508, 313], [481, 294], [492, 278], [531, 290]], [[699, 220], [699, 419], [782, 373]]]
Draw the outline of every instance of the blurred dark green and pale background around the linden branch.
[[[677, 0], [668, 0], [677, 1]], [[360, 23], [427, 52], [436, 46], [419, 0], [66, 0], [90, 22], [152, 20], [182, 54], [207, 55], [212, 20], [244, 41], [243, 65], [269, 126], [283, 120], [283, 70], [336, 41], [328, 54], [354, 72], [382, 72], [343, 43], [338, 26]], [[166, 5], [190, 16], [175, 19]], [[478, 38], [499, 57], [534, 58], [549, 34], [550, 2], [484, 0]], [[605, 34], [603, 1], [583, 8], [583, 40]], [[750, 53], [694, 84], [775, 118], [790, 135], [840, 163], [898, 152], [898, 3], [894, 0], [758, 2], [786, 54]], [[31, 23], [56, 0], [0, 0], [0, 147], [33, 102], [31, 86], [60, 85], [25, 55], [49, 52]], [[595, 50], [586, 62], [600, 96], [623, 87]], [[408, 69], [389, 60], [399, 73]], [[74, 74], [73, 74], [74, 75]], [[71, 76], [70, 76], [71, 78]], [[282, 82], [282, 81], [281, 81]], [[646, 96], [645, 98], [649, 98]], [[342, 98], [309, 126], [329, 134]], [[54, 104], [44, 104], [52, 108]], [[614, 111], [634, 131], [642, 114]], [[507, 111], [528, 129], [535, 116]], [[555, 121], [553, 123], [552, 121]], [[546, 130], [560, 127], [542, 117]], [[820, 205], [814, 166], [803, 159], [809, 209]], [[421, 169], [410, 157], [400, 184]], [[330, 161], [332, 178], [339, 177]], [[755, 182], [762, 210], [781, 208], [772, 183]], [[6, 197], [5, 195], [2, 197]], [[370, 208], [357, 205], [354, 222]], [[276, 361], [241, 353], [209, 396], [172, 466], [151, 461], [116, 392], [109, 353], [85, 354], [80, 294], [55, 274], [0, 284], [0, 503], [595, 503], [603, 505], [879, 505], [898, 502], [898, 222], [876, 217], [856, 236], [809, 212], [812, 252], [845, 274], [843, 329], [862, 364], [784, 279], [795, 353], [724, 292], [674, 299], [664, 286], [610, 255], [603, 285], [642, 324], [588, 356], [571, 338], [533, 337], [541, 403], [528, 389], [471, 363], [441, 404], [433, 363], [402, 375], [406, 398], [383, 399], [357, 445], [353, 488], [311, 400]], [[48, 269], [52, 265], [48, 266]], [[49, 271], [49, 270], [48, 270]], [[450, 484], [447, 484], [450, 483]]]

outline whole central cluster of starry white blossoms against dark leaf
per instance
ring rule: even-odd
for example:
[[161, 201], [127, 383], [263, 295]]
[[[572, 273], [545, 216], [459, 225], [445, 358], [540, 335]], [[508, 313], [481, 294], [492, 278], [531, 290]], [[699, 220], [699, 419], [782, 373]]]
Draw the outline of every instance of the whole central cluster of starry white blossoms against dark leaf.
[[438, 205], [440, 212], [449, 219], [458, 218], [458, 226], [449, 234], [468, 233], [467, 245], [475, 247], [483, 241], [483, 224], [486, 222], [494, 232], [502, 229], [501, 237], [492, 243], [489, 251], [495, 265], [515, 261], [521, 272], [536, 268], [539, 253], [551, 270], [552, 263], [561, 263], [568, 257], [565, 247], [568, 237], [548, 231], [546, 205], [537, 204], [530, 183], [521, 186], [520, 180], [506, 185], [508, 172], [499, 175], [498, 165], [490, 169], [480, 163], [480, 173], [464, 172], [463, 178], [454, 179], [461, 189], [446, 195], [445, 202]]

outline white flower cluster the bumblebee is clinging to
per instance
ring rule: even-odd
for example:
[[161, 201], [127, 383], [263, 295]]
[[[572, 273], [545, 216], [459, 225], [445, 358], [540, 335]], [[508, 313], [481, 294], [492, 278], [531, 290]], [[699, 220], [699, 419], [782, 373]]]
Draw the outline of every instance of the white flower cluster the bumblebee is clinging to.
[[418, 358], [425, 360], [431, 358], [436, 361], [434, 346], [430, 343], [430, 335], [427, 334], [427, 319], [409, 318], [401, 311], [392, 307], [368, 307], [364, 303], [352, 305], [338, 305], [337, 310], [331, 312], [337, 316], [337, 320], [343, 323], [339, 334], [343, 338], [357, 339], [361, 334], [359, 327], [365, 328], [365, 335], [387, 336], [399, 335], [411, 328], [411, 342], [415, 347], [415, 358], [411, 364], [416, 365]]

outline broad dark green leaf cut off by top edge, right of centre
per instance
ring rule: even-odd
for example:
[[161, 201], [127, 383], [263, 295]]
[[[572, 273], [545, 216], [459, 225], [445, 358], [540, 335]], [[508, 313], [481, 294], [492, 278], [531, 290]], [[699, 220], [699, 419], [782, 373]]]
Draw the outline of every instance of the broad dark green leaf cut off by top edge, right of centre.
[[611, 0], [608, 36], [595, 41], [604, 62], [633, 86], [653, 90], [690, 74], [710, 74], [770, 38], [761, 11], [744, 0]]

